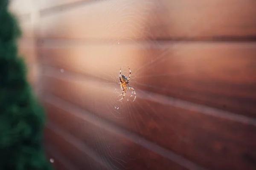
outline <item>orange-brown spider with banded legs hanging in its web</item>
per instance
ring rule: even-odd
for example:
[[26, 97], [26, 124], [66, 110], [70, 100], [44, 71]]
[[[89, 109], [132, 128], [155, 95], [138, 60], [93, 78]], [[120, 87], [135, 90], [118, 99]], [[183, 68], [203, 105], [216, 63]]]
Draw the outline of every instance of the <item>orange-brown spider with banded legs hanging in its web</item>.
[[[129, 68], [129, 66], [128, 66], [128, 68]], [[129, 78], [127, 79], [127, 77], [125, 75], [121, 74], [121, 67], [120, 67], [119, 81], [120, 81], [120, 86], [121, 86], [121, 90], [122, 90], [122, 94], [123, 94], [122, 99], [125, 97], [126, 90], [129, 89], [129, 90], [131, 90], [131, 96], [134, 94], [134, 100], [135, 100], [136, 99], [136, 93], [135, 93], [134, 88], [127, 87], [130, 84], [129, 81], [130, 81], [130, 78], [131, 78], [130, 68], [129, 68], [129, 71], [130, 71], [130, 74], [129, 74]], [[119, 96], [121, 96], [122, 94], [120, 94]], [[121, 101], [122, 99], [120, 99], [119, 101]], [[133, 102], [134, 102], [134, 100], [133, 100]]]

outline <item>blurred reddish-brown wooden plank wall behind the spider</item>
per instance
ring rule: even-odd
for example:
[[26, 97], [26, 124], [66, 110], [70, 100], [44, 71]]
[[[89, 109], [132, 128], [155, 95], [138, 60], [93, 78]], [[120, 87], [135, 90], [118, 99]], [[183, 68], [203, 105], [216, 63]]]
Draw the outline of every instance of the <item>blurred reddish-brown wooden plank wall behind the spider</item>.
[[[12, 0], [10, 8], [56, 170], [256, 169], [255, 0]], [[137, 99], [120, 103], [116, 81], [127, 65]]]

